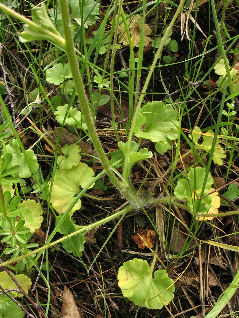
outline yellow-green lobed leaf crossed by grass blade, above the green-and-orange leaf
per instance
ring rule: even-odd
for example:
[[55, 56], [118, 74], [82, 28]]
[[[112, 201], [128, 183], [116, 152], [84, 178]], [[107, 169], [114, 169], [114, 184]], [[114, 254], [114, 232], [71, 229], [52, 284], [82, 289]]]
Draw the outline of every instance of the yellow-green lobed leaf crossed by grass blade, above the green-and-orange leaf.
[[[206, 134], [211, 134], [211, 136], [208, 136]], [[212, 130], [208, 130], [205, 135], [203, 135], [203, 142], [201, 144], [198, 143], [199, 138], [201, 137], [201, 129], [199, 127], [195, 127], [192, 131], [192, 135], [189, 135], [191, 139], [193, 139], [193, 142], [195, 144], [195, 149], [202, 149], [206, 152], [209, 152], [212, 149], [212, 143], [214, 138], [214, 132]], [[220, 140], [217, 138], [216, 140], [216, 146], [214, 148], [213, 152], [213, 161], [215, 164], [222, 165], [223, 161], [222, 159], [226, 158], [225, 151], [221, 148]]]

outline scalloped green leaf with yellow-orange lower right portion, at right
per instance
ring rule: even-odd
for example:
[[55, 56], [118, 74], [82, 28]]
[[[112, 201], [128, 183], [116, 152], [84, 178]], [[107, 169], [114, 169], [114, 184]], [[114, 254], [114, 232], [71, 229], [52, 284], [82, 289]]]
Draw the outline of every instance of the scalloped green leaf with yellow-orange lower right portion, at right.
[[205, 178], [205, 168], [192, 168], [187, 177], [178, 180], [177, 186], [174, 189], [175, 197], [185, 200], [188, 207], [191, 209], [192, 214], [199, 221], [213, 219], [214, 216], [205, 217], [200, 216], [200, 214], [217, 214], [218, 208], [220, 207], [220, 197], [218, 197], [218, 192], [214, 192], [199, 200], [200, 197], [203, 197], [214, 190], [211, 188], [213, 177], [209, 172], [206, 178], [205, 189], [202, 192]]

